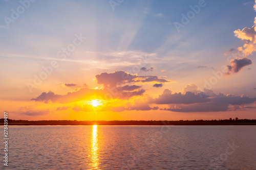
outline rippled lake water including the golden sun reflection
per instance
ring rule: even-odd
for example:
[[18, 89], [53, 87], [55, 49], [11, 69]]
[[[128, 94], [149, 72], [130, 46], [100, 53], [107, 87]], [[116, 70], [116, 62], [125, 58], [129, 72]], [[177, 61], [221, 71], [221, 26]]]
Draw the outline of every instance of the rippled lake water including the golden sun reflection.
[[9, 126], [9, 139], [0, 169], [256, 169], [256, 126]]

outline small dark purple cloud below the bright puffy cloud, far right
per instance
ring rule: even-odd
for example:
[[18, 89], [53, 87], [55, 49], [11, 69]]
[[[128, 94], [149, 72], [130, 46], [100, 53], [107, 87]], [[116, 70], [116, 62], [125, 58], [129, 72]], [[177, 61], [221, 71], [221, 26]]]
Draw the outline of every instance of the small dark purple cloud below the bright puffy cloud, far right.
[[230, 61], [231, 65], [227, 65], [227, 73], [231, 74], [240, 71], [244, 66], [252, 64], [251, 60], [248, 58], [236, 58]]

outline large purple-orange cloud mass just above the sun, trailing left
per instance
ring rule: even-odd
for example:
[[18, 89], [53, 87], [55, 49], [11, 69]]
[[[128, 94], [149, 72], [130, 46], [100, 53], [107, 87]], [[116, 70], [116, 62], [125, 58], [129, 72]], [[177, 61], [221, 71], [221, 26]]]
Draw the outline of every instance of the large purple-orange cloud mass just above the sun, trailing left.
[[98, 84], [104, 85], [103, 89], [90, 89], [88, 87], [83, 87], [75, 89], [74, 91], [68, 92], [64, 95], [55, 94], [50, 90], [49, 92], [42, 92], [39, 96], [31, 100], [44, 103], [71, 103], [78, 102], [90, 96], [97, 96], [97, 98], [100, 99], [104, 99], [106, 96], [112, 99], [129, 99], [135, 95], [143, 95], [145, 90], [142, 86], [125, 85], [125, 83], [169, 82], [168, 80], [157, 76], [138, 76], [124, 71], [115, 71], [110, 74], [103, 72], [95, 77]]

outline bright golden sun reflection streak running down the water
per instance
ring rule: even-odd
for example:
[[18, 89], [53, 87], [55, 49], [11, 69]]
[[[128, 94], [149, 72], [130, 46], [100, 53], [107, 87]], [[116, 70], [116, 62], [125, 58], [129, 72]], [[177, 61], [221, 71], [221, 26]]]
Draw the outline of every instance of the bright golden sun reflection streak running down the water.
[[98, 158], [98, 126], [93, 125], [92, 135], [91, 135], [91, 161], [92, 166], [98, 168], [99, 158]]

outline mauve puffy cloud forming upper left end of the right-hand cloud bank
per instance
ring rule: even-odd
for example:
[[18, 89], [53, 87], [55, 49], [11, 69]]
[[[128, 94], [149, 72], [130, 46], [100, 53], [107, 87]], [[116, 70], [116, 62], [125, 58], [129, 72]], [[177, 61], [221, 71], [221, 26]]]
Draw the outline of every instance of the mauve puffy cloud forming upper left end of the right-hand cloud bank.
[[207, 95], [201, 93], [193, 93], [186, 91], [185, 94], [174, 93], [172, 91], [165, 89], [163, 94], [155, 100], [156, 104], [193, 104], [193, 103], [205, 103], [209, 102], [210, 99]]

